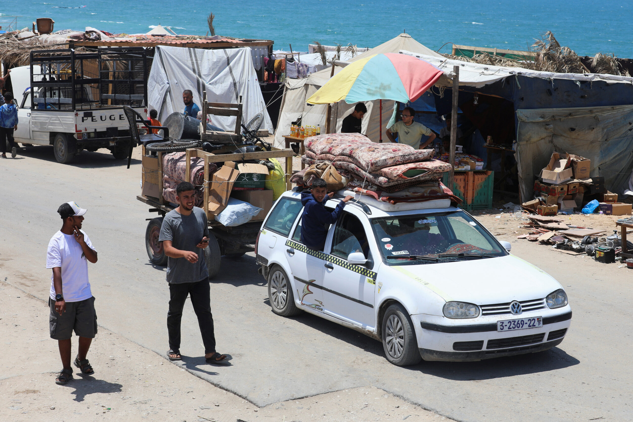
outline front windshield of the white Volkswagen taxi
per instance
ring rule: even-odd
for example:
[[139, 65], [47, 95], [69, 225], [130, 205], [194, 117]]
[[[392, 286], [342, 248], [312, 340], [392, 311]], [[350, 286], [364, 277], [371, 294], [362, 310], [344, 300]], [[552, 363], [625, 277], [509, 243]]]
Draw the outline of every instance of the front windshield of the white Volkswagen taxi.
[[506, 251], [463, 211], [372, 218], [385, 264], [442, 263], [505, 256]]

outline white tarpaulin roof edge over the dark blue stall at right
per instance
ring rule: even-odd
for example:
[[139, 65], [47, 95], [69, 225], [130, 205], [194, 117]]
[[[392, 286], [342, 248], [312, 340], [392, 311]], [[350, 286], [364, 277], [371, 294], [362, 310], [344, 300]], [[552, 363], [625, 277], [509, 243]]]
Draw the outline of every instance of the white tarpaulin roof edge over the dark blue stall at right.
[[[605, 75], [602, 73], [553, 73], [549, 71], [537, 71], [523, 68], [511, 68], [492, 65], [480, 65], [479, 63], [469, 63], [468, 61], [453, 60], [437, 56], [430, 56], [422, 53], [412, 53], [406, 49], [399, 51], [401, 54], [407, 54], [408, 56], [414, 56], [418, 59], [428, 61], [434, 66], [437, 66], [444, 72], [452, 72], [453, 66], [460, 66], [460, 85], [469, 87], [480, 88], [487, 84], [492, 84], [503, 78], [509, 76], [522, 75], [532, 78], [542, 79], [568, 79], [577, 81], [596, 81], [603, 80], [608, 84], [624, 83], [633, 84], [633, 78], [627, 76]], [[436, 85], [443, 85], [446, 87], [453, 86], [453, 80], [446, 75], [442, 75], [437, 81]]]

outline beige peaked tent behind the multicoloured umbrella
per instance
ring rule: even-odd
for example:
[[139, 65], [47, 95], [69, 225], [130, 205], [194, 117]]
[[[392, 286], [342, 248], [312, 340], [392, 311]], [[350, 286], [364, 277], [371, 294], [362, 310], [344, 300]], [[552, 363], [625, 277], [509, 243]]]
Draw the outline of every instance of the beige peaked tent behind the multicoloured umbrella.
[[[420, 54], [429, 54], [437, 58], [443, 58], [441, 54], [432, 51], [423, 46], [408, 34], [400, 34], [398, 37], [391, 39], [380, 46], [374, 47], [365, 53], [349, 60], [349, 62], [336, 62], [334, 73], [338, 73], [348, 63], [353, 63], [359, 59], [367, 58], [372, 54], [378, 53], [398, 53], [400, 50], [415, 51]], [[330, 79], [332, 66], [327, 69], [312, 73], [303, 79], [286, 79], [284, 81], [285, 91], [284, 100], [282, 102], [282, 110], [279, 113], [279, 124], [277, 132], [275, 132], [275, 146], [284, 146], [284, 138], [282, 135], [290, 133], [292, 121], [301, 118], [303, 125], [321, 125], [321, 133], [325, 133], [325, 119], [327, 116], [327, 104], [311, 105], [306, 102], [312, 94], [322, 87], [325, 82]], [[344, 101], [332, 104], [332, 128], [331, 132], [341, 132], [343, 119], [353, 111], [356, 104], [347, 104]], [[380, 101], [366, 101], [367, 114], [363, 118], [362, 131], [370, 139], [378, 140], [380, 138], [379, 128], [379, 109]], [[382, 102], [382, 139], [389, 142], [385, 135], [385, 123], [389, 121], [393, 114], [393, 101]]]

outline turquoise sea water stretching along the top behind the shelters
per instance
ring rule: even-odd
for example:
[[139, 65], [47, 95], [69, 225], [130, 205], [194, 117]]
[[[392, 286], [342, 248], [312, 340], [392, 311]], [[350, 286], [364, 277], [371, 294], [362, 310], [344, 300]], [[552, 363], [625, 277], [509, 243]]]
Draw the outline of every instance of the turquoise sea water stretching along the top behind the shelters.
[[[81, 7], [84, 6], [85, 7]], [[112, 33], [144, 33], [169, 25], [178, 34], [204, 35], [215, 14], [216, 34], [271, 39], [275, 49], [306, 51], [308, 43], [373, 47], [406, 30], [425, 46], [446, 42], [526, 49], [551, 30], [580, 55], [615, 53], [633, 58], [631, 1], [8, 1], [3, 15], [22, 15], [18, 27], [50, 17], [55, 29], [96, 27]], [[1, 19], [0, 19], [1, 20]], [[442, 52], [448, 52], [446, 46]]]

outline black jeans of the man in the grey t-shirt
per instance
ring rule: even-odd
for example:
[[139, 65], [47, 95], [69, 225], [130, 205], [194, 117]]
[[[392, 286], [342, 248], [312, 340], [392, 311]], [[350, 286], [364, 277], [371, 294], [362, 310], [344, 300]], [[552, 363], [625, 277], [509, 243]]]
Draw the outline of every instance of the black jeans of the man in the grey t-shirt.
[[191, 297], [191, 304], [198, 318], [200, 333], [204, 343], [204, 353], [215, 352], [215, 334], [213, 332], [213, 315], [211, 315], [211, 287], [208, 278], [197, 283], [169, 284], [169, 311], [167, 313], [167, 332], [169, 333], [169, 348], [180, 350], [180, 319], [182, 308], [185, 306], [187, 295]]

